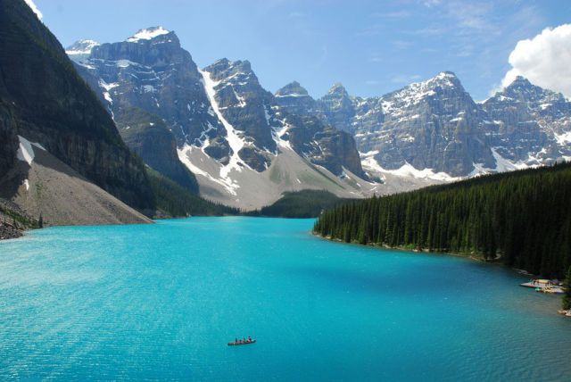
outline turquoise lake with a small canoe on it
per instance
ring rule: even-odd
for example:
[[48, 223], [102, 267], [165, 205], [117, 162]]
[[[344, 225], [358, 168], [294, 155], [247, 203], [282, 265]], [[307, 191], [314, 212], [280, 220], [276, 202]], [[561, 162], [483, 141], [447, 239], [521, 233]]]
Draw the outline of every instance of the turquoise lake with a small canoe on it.
[[571, 380], [559, 297], [312, 225], [191, 218], [2, 242], [0, 379]]

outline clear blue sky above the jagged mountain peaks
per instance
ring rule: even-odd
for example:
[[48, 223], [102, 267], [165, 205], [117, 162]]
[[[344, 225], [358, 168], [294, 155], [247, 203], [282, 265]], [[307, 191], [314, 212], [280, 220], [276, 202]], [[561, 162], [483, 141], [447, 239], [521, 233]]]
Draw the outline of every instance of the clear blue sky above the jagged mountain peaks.
[[175, 30], [201, 67], [252, 62], [262, 86], [298, 80], [320, 96], [334, 82], [384, 95], [454, 71], [476, 100], [499, 87], [517, 42], [571, 21], [567, 0], [35, 0], [68, 46], [123, 40], [145, 27]]

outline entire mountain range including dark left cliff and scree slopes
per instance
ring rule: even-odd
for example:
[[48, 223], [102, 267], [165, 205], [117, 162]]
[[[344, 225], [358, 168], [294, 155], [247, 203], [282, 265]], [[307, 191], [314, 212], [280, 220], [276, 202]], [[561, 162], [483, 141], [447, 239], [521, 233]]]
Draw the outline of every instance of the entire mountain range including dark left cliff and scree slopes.
[[521, 77], [484, 102], [450, 71], [376, 97], [337, 83], [313, 98], [296, 81], [272, 94], [250, 62], [199, 68], [162, 27], [64, 50], [23, 1], [0, 4], [0, 202], [12, 220], [236, 213], [224, 205], [391, 194], [571, 158], [571, 103]]

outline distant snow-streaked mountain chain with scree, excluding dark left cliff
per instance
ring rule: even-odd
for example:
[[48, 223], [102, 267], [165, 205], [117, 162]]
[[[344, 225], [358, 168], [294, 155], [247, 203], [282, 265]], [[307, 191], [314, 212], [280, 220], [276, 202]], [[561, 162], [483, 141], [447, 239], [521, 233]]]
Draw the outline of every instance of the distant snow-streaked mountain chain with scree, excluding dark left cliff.
[[314, 99], [295, 81], [272, 95], [248, 61], [200, 69], [162, 27], [67, 53], [149, 166], [245, 210], [287, 191], [383, 195], [571, 156], [571, 103], [521, 77], [483, 103], [449, 71], [388, 95], [335, 84]]

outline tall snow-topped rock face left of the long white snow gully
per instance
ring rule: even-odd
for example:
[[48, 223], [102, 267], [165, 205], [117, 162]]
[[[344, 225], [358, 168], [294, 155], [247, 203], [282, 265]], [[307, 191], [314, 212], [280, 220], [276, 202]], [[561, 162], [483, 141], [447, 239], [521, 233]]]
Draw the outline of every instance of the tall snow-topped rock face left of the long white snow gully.
[[165, 120], [178, 145], [217, 141], [225, 148], [217, 159], [228, 157], [226, 130], [211, 109], [196, 64], [174, 32], [142, 29], [126, 41], [93, 47], [79, 63], [99, 79], [113, 113], [130, 107], [153, 113]]

